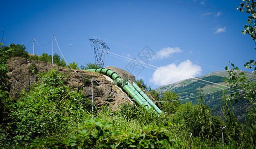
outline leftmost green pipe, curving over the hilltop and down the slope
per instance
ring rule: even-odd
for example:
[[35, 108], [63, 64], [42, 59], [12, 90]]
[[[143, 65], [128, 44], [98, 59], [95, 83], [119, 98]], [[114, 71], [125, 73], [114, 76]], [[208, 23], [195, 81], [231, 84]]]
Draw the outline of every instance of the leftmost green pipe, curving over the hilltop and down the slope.
[[[100, 74], [105, 74], [105, 75], [108, 75], [109, 77], [111, 77], [113, 80], [115, 80], [117, 82], [117, 84], [132, 98], [135, 100], [135, 102], [137, 104], [139, 104], [140, 106], [144, 106], [144, 102], [146, 102], [145, 99], [140, 99], [139, 96], [137, 94], [134, 93], [134, 91], [128, 86], [128, 83], [123, 83], [121, 82], [121, 77], [119, 75], [117, 75], [115, 72], [111, 71], [110, 69], [104, 69], [104, 68], [101, 68], [101, 69], [89, 69], [89, 70], [86, 70], [86, 71], [90, 71], [90, 72], [98, 72]], [[149, 106], [150, 105], [146, 105], [146, 106]]]

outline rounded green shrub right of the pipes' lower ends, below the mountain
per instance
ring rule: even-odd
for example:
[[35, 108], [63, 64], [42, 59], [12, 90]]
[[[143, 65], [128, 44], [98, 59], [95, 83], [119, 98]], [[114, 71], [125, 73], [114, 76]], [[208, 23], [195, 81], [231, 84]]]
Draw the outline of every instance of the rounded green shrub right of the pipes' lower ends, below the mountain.
[[221, 134], [220, 118], [211, 115], [211, 110], [202, 104], [202, 98], [199, 104], [193, 105], [186, 102], [178, 107], [174, 115], [174, 122], [183, 125], [183, 129], [193, 137], [201, 137], [203, 141], [210, 140], [211, 145], [218, 140]]

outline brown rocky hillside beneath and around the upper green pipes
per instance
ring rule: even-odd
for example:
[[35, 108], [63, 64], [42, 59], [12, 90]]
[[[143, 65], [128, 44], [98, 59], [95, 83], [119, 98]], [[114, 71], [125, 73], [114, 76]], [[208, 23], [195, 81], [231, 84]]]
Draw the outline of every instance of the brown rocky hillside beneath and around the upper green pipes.
[[[102, 74], [87, 72], [84, 70], [75, 70], [74, 72], [71, 69], [58, 67], [55, 64], [42, 61], [27, 60], [19, 57], [12, 57], [9, 59], [7, 66], [9, 71], [8, 80], [10, 84], [9, 96], [12, 100], [18, 99], [20, 97], [20, 91], [29, 90], [30, 86], [36, 83], [38, 80], [38, 74], [48, 72], [51, 69], [56, 69], [57, 71], [67, 75], [65, 81], [66, 86], [70, 87], [74, 91], [83, 93], [87, 99], [92, 99], [92, 81], [87, 80], [78, 74], [86, 78], [94, 78], [94, 80], [99, 82], [103, 87], [94, 82], [94, 103], [97, 107], [108, 105], [109, 108], [117, 110], [120, 104], [131, 102], [126, 98], [109, 92], [108, 90], [124, 97], [127, 96], [117, 85], [113, 83], [111, 78]], [[115, 67], [109, 67], [109, 69], [122, 72], [120, 76], [126, 73], [124, 70]], [[135, 77], [131, 76], [129, 73], [125, 76], [135, 80]]]

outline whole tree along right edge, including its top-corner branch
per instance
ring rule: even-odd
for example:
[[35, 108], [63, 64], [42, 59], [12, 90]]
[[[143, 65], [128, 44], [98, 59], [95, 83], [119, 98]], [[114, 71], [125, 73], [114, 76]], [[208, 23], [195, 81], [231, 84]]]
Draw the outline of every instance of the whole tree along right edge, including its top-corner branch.
[[[245, 30], [243, 34], [249, 34], [250, 37], [256, 42], [256, 1], [255, 0], [242, 0], [246, 2], [240, 3], [241, 6], [238, 9], [249, 14]], [[256, 49], [256, 48], [255, 48]], [[254, 69], [256, 74], [256, 62], [251, 60], [245, 64], [245, 68]], [[239, 89], [235, 93], [231, 93], [230, 96], [224, 98], [225, 105], [223, 107], [225, 111], [226, 121], [230, 123], [227, 125], [227, 129], [230, 130], [228, 135], [231, 136], [230, 140], [235, 142], [237, 145], [241, 145], [242, 148], [256, 148], [256, 84], [252, 84], [250, 80], [245, 76], [244, 72], [240, 72], [238, 67], [231, 64], [231, 69], [225, 68], [229, 72], [229, 78], [225, 78], [230, 84], [230, 88]], [[238, 102], [238, 100], [248, 100], [251, 105], [247, 113], [247, 125], [245, 126], [245, 134], [236, 131], [237, 122], [232, 117], [232, 113], [229, 111], [229, 103]], [[232, 123], [231, 123], [232, 122]]]

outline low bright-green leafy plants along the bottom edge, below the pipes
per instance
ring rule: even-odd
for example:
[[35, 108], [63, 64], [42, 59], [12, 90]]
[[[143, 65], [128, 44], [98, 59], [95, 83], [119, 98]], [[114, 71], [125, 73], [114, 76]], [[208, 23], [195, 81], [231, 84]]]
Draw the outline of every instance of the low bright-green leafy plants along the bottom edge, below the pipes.
[[167, 149], [176, 144], [166, 128], [143, 127], [138, 131], [109, 131], [111, 123], [90, 119], [84, 126], [61, 140], [35, 140], [30, 147], [36, 148], [76, 148], [76, 149]]

